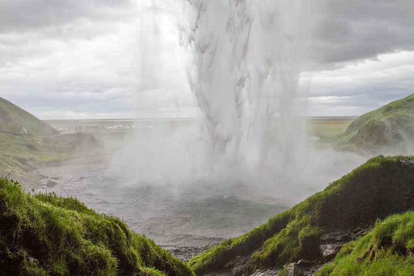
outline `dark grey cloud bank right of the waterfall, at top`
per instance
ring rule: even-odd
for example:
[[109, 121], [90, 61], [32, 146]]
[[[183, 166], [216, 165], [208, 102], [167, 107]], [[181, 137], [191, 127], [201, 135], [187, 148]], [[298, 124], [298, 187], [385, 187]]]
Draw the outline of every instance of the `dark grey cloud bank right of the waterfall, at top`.
[[305, 59], [309, 69], [375, 59], [414, 49], [412, 1], [309, 1], [304, 5]]

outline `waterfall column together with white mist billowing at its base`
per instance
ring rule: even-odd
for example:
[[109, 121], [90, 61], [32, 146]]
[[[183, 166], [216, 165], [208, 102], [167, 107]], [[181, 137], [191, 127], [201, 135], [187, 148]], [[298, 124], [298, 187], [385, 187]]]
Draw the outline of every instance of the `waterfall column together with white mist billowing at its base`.
[[149, 142], [130, 138], [114, 169], [172, 185], [250, 183], [296, 202], [309, 164], [318, 163], [307, 147], [309, 84], [300, 78], [302, 2], [194, 0], [177, 7], [197, 120]]

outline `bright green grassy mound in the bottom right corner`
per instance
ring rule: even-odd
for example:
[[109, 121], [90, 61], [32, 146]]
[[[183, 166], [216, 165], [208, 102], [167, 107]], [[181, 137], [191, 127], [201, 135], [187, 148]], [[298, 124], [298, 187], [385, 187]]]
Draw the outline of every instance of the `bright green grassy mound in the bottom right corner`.
[[414, 275], [414, 213], [378, 221], [358, 240], [344, 245], [315, 276]]

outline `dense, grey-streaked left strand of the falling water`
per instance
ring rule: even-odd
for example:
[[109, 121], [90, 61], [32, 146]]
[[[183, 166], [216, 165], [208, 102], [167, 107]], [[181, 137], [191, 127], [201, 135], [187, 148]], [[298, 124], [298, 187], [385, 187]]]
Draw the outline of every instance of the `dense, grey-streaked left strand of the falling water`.
[[237, 154], [248, 79], [250, 2], [192, 1], [191, 5], [195, 19], [181, 41], [194, 50], [189, 83], [203, 112], [206, 142], [212, 156], [230, 146]]

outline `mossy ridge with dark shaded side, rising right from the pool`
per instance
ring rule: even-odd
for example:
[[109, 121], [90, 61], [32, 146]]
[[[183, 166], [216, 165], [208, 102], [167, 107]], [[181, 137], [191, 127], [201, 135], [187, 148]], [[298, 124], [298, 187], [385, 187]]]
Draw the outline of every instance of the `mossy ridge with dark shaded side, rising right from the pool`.
[[269, 222], [192, 258], [189, 265], [202, 274], [222, 269], [239, 255], [251, 255], [256, 266], [264, 267], [318, 258], [323, 232], [373, 224], [414, 207], [409, 196], [414, 192], [412, 162], [413, 157], [374, 157]]

